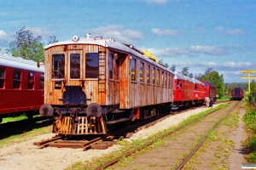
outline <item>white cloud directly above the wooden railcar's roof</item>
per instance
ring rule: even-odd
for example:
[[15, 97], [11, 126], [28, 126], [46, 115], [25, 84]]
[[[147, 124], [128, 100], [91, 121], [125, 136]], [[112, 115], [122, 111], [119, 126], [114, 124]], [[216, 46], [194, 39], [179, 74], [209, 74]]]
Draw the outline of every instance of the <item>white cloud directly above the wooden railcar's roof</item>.
[[102, 26], [92, 30], [85, 31], [90, 32], [95, 36], [102, 36], [104, 38], [113, 38], [114, 40], [122, 43], [135, 43], [143, 39], [143, 33], [141, 31], [135, 31], [127, 29], [124, 26]]

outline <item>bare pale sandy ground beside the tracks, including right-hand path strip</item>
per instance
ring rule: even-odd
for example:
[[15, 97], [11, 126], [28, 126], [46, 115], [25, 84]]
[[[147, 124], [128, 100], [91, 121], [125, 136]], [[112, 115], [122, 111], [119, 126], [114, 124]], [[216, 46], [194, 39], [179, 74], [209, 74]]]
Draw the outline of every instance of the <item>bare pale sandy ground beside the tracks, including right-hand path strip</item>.
[[[214, 105], [216, 106], [216, 105]], [[183, 121], [191, 115], [195, 115], [201, 111], [206, 111], [209, 108], [195, 109], [192, 111], [187, 111], [182, 115], [178, 114], [171, 116], [162, 122], [156, 123], [152, 127], [143, 129], [135, 133], [131, 139], [139, 139], [142, 136], [145, 137], [152, 133], [164, 130], [178, 122]], [[243, 113], [241, 111], [240, 116]], [[71, 166], [76, 161], [90, 161], [96, 156], [102, 156], [108, 154], [113, 150], [119, 150], [119, 145], [115, 144], [113, 147], [108, 148], [108, 150], [82, 150], [82, 149], [68, 149], [68, 148], [53, 148], [48, 147], [44, 149], [38, 149], [38, 146], [33, 145], [33, 142], [38, 142], [42, 139], [49, 139], [55, 136], [54, 133], [47, 133], [32, 139], [18, 143], [18, 144], [6, 144], [2, 149], [0, 149], [0, 169], [3, 170], [60, 170]], [[235, 144], [234, 150], [230, 155], [230, 169], [239, 169], [241, 167], [241, 162], [245, 162], [243, 159], [243, 151], [241, 148], [241, 140], [246, 138], [245, 128], [241, 118], [239, 121], [239, 127], [230, 133], [230, 138], [233, 138]]]

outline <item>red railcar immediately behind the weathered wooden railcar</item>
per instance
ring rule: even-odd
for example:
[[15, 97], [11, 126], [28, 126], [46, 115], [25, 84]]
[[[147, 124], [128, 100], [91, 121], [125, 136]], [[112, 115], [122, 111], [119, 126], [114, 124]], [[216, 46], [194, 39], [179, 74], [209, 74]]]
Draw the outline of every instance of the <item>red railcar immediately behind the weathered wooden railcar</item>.
[[191, 78], [179, 73], [175, 73], [174, 75], [174, 101], [172, 109], [176, 109], [178, 106], [192, 105], [194, 100], [194, 82]]

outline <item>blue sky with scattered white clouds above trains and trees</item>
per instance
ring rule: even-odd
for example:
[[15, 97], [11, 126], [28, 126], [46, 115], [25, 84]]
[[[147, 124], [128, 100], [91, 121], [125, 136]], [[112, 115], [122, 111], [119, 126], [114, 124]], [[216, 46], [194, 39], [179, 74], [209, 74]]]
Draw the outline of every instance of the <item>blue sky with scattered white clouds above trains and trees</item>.
[[11, 0], [0, 4], [0, 48], [23, 26], [59, 41], [102, 36], [148, 49], [177, 71], [212, 68], [224, 82], [256, 70], [255, 0]]

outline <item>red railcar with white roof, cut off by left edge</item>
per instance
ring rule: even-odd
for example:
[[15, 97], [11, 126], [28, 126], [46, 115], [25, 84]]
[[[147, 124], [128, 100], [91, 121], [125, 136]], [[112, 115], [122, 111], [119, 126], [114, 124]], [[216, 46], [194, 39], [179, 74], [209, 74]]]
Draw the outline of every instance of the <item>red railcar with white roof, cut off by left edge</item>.
[[0, 122], [9, 114], [32, 118], [44, 104], [44, 65], [0, 53]]

